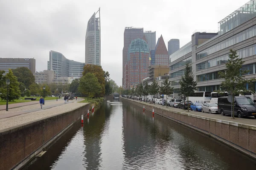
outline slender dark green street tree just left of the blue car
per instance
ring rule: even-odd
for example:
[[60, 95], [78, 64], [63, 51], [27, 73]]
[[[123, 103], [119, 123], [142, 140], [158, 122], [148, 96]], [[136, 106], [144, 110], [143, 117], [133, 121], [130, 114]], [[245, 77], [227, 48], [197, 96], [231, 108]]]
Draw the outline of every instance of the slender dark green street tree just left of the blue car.
[[194, 93], [194, 91], [196, 90], [196, 85], [197, 85], [197, 82], [194, 81], [194, 75], [192, 72], [191, 64], [187, 62], [184, 75], [181, 77], [181, 80], [180, 80], [179, 92], [180, 94], [184, 95], [184, 107], [186, 104], [185, 99], [187, 97], [188, 112], [189, 112], [189, 96], [192, 93]]

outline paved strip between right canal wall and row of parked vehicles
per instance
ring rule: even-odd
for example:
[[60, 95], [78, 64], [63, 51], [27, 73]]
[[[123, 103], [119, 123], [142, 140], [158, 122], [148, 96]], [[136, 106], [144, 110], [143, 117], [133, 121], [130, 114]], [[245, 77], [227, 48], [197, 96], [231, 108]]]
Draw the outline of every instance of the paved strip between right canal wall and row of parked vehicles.
[[[132, 99], [128, 99], [128, 100], [132, 100]], [[132, 100], [132, 101], [136, 101], [136, 100]], [[139, 102], [139, 101], [137, 101]], [[254, 116], [250, 116], [250, 117], [245, 117], [245, 118], [237, 118], [235, 117], [235, 119], [231, 118], [231, 116], [222, 116], [221, 114], [217, 113], [217, 114], [209, 114], [209, 113], [202, 113], [202, 112], [198, 112], [198, 111], [190, 111], [189, 112], [186, 110], [184, 111], [183, 109], [178, 109], [178, 108], [173, 108], [173, 107], [168, 107], [166, 108], [166, 106], [162, 106], [162, 105], [158, 105], [158, 104], [149, 104], [146, 102], [139, 102], [141, 104], [145, 104], [145, 105], [152, 105], [154, 107], [158, 107], [158, 108], [164, 108], [164, 109], [168, 109], [171, 111], [177, 111], [177, 112], [183, 112], [183, 113], [189, 113], [189, 114], [193, 114], [193, 115], [198, 115], [198, 116], [203, 116], [203, 117], [207, 117], [207, 118], [211, 118], [211, 119], [218, 119], [218, 120], [224, 120], [224, 121], [229, 121], [229, 122], [235, 122], [235, 123], [242, 123], [245, 125], [254, 125], [256, 126], [256, 118]]]

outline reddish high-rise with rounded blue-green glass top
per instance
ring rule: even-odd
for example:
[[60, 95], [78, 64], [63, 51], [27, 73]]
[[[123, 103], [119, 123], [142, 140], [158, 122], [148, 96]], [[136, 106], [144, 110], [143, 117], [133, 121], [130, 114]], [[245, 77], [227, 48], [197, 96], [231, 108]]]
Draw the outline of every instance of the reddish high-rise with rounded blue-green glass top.
[[[148, 77], [149, 48], [145, 40], [135, 39], [128, 48], [128, 87], [140, 84]], [[125, 75], [126, 78], [126, 75]]]

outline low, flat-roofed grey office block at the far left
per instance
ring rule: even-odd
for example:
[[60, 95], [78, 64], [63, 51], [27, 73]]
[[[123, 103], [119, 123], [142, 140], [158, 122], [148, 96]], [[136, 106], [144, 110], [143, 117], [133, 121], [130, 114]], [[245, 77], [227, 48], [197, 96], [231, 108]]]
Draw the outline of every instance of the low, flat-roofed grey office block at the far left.
[[0, 70], [5, 73], [9, 72], [9, 68], [15, 69], [18, 67], [26, 67], [34, 74], [35, 73], [35, 59], [31, 58], [0, 58]]

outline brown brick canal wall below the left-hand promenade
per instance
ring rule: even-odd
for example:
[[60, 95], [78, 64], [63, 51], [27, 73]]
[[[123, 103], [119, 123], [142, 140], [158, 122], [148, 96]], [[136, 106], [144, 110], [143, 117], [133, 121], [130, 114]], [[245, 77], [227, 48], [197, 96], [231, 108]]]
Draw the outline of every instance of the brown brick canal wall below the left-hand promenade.
[[20, 169], [71, 127], [90, 104], [0, 131], [0, 170]]

